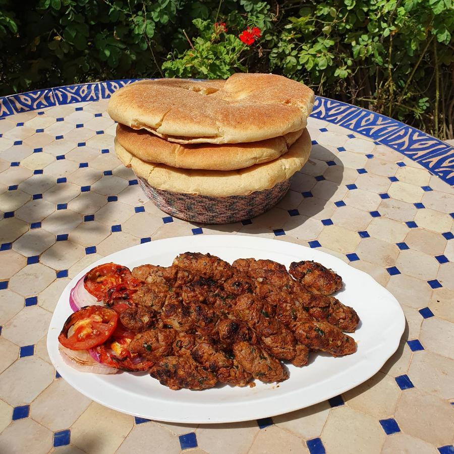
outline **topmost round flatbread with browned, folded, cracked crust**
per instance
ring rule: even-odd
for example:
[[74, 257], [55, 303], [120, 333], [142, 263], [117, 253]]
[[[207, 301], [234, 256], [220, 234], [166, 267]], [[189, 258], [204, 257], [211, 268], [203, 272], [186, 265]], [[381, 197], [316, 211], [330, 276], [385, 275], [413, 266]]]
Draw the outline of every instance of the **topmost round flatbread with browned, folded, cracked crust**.
[[112, 94], [110, 117], [178, 143], [244, 143], [306, 127], [314, 92], [275, 74], [225, 81], [142, 80]]

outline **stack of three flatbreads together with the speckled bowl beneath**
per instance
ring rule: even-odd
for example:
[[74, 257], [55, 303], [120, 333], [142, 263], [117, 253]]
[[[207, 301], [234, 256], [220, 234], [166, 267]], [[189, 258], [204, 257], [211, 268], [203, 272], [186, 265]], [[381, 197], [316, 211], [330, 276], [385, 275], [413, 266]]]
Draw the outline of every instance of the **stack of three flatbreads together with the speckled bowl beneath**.
[[220, 223], [260, 214], [285, 195], [309, 158], [313, 103], [299, 82], [234, 74], [135, 82], [112, 95], [108, 112], [119, 123], [118, 157], [159, 208]]

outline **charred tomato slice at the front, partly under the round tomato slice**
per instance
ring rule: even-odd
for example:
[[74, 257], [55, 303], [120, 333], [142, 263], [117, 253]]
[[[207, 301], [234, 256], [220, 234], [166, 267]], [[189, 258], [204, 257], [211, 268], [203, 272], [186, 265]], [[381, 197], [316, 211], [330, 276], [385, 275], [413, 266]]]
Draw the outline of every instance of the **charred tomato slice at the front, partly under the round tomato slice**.
[[103, 345], [96, 347], [101, 363], [128, 372], [150, 369], [154, 364], [152, 361], [142, 359], [139, 355], [133, 354], [127, 349], [136, 334], [136, 332], [128, 331], [119, 321], [111, 338]]

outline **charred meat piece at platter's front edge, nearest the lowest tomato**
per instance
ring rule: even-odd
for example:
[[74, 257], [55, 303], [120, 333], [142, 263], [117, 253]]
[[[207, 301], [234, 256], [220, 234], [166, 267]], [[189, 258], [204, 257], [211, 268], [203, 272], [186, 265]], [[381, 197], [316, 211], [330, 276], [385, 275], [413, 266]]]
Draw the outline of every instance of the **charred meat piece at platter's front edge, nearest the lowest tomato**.
[[192, 358], [167, 356], [159, 360], [150, 375], [171, 389], [206, 389], [217, 383], [216, 376], [203, 369]]

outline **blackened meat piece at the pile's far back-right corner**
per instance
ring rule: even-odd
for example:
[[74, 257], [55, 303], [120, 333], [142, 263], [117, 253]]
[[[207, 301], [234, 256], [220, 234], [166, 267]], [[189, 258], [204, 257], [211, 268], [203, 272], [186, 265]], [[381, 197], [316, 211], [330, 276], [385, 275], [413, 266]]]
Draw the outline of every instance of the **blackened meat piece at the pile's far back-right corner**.
[[290, 274], [313, 293], [331, 295], [342, 288], [341, 276], [314, 261], [292, 262]]

